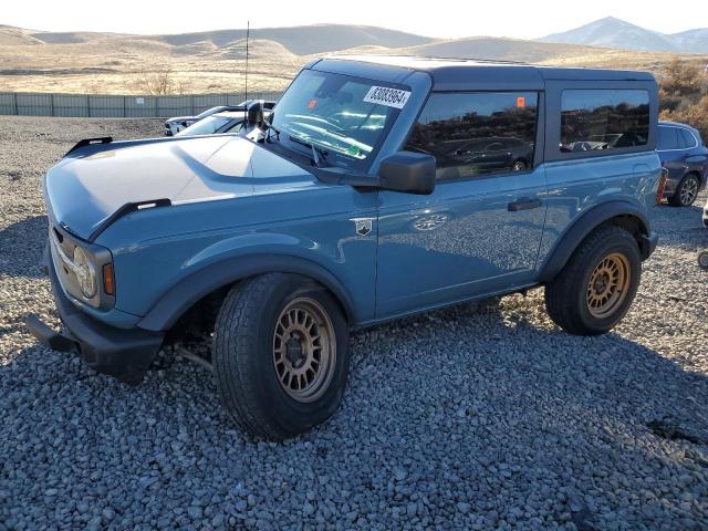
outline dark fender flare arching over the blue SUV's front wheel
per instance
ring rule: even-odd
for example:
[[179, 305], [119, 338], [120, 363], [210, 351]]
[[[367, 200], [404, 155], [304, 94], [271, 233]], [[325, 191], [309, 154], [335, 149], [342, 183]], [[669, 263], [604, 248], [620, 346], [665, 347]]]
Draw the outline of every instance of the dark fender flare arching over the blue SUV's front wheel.
[[192, 304], [215, 290], [248, 277], [273, 272], [302, 274], [320, 282], [340, 301], [347, 321], [356, 323], [347, 290], [324, 267], [290, 254], [249, 254], [211, 263], [181, 279], [153, 305], [138, 326], [155, 332], [167, 331]]

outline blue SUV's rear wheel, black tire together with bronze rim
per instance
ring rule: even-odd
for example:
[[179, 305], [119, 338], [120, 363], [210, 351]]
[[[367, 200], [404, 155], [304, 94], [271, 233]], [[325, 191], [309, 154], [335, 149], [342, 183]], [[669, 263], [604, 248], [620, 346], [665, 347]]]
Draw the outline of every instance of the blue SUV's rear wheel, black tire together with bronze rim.
[[634, 236], [620, 227], [601, 227], [546, 284], [545, 308], [553, 322], [571, 334], [604, 334], [629, 310], [641, 275]]

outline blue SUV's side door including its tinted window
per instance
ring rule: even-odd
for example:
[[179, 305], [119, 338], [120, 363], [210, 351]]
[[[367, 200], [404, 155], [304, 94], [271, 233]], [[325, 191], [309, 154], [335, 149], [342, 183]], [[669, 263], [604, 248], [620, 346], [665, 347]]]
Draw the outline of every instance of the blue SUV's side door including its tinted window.
[[[378, 319], [532, 282], [546, 192], [543, 166], [533, 164], [538, 98], [430, 96], [406, 149], [436, 157], [435, 191], [378, 194]], [[478, 140], [514, 146], [513, 155], [480, 162], [465, 147]]]

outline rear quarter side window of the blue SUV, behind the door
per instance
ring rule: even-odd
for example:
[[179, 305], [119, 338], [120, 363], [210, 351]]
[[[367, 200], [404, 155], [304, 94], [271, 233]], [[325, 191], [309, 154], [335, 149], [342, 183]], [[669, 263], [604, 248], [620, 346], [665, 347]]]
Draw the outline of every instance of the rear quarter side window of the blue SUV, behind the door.
[[647, 91], [563, 91], [561, 152], [645, 146], [648, 136], [649, 93]]

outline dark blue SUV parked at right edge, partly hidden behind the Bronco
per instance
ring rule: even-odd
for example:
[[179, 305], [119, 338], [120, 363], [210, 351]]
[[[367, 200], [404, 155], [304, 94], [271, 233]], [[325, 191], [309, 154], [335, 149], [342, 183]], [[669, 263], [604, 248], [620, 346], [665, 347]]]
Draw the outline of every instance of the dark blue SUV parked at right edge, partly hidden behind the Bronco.
[[708, 148], [698, 129], [676, 122], [659, 122], [656, 149], [668, 169], [664, 197], [674, 207], [688, 207], [706, 186]]

